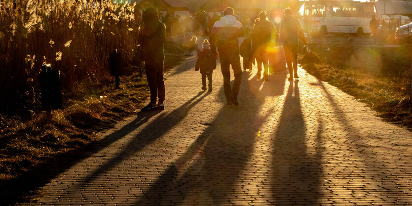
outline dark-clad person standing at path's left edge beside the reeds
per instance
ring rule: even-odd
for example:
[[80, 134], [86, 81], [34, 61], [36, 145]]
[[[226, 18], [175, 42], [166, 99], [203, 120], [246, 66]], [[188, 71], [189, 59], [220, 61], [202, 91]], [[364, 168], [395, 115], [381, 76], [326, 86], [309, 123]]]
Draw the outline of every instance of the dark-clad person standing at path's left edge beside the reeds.
[[[140, 42], [142, 60], [146, 64], [146, 75], [150, 87], [150, 103], [141, 111], [164, 110], [163, 62], [166, 27], [160, 22], [156, 9], [153, 7], [143, 12], [142, 19], [143, 31]], [[159, 99], [157, 104], [156, 98]]]

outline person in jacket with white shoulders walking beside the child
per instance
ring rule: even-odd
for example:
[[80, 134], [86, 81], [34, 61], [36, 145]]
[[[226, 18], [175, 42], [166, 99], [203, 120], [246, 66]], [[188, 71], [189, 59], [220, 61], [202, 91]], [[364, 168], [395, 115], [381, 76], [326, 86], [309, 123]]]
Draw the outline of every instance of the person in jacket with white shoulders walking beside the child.
[[[226, 105], [228, 106], [239, 105], [237, 95], [242, 78], [242, 68], [240, 67], [238, 38], [243, 37], [243, 35], [243, 26], [236, 20], [234, 10], [231, 7], [225, 8], [224, 17], [213, 25], [210, 34], [212, 52], [216, 58], [220, 58]], [[233, 87], [230, 85], [230, 65], [234, 74]]]

